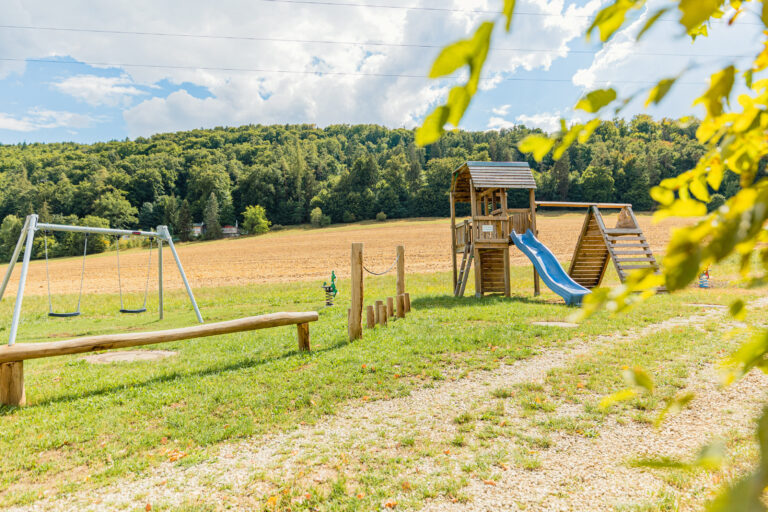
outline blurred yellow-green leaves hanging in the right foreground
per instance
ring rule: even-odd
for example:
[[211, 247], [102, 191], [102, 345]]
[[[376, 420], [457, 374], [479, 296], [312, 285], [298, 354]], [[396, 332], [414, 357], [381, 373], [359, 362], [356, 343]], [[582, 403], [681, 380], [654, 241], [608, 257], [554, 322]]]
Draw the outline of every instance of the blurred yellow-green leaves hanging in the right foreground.
[[[646, 0], [614, 0], [603, 7], [586, 31], [589, 39], [594, 33], [605, 42], [628, 24], [632, 11], [646, 7], [645, 24], [635, 38], [653, 37], [649, 32], [664, 15], [678, 15], [678, 27], [695, 42], [706, 37], [713, 23], [727, 23], [738, 30], [743, 20], [759, 10], [760, 20], [768, 29], [768, 1], [766, 0], [671, 0], [650, 12]], [[466, 68], [467, 81], [453, 87], [445, 104], [438, 106], [417, 132], [417, 141], [429, 144], [438, 140], [446, 124], [458, 126], [472, 97], [478, 90], [483, 65], [491, 48], [495, 25], [503, 24], [506, 32], [512, 28], [515, 0], [504, 0], [499, 19], [482, 23], [474, 35], [443, 49], [435, 60], [430, 76], [444, 77]], [[720, 21], [723, 20], [723, 21]], [[585, 315], [608, 308], [621, 311], [644, 300], [658, 287], [669, 291], [681, 290], [710, 265], [723, 261], [732, 254], [741, 258], [741, 273], [749, 286], [765, 285], [768, 281], [768, 178], [760, 175], [761, 161], [768, 155], [768, 79], [762, 78], [768, 68], [768, 30], [755, 45], [755, 58], [746, 69], [734, 64], [723, 67], [710, 77], [708, 89], [695, 100], [706, 110], [706, 117], [696, 130], [696, 137], [704, 153], [687, 172], [667, 178], [651, 190], [651, 196], [661, 204], [657, 218], [665, 216], [705, 216], [707, 204], [722, 190], [728, 173], [739, 176], [739, 191], [725, 203], [706, 215], [695, 225], [678, 230], [670, 241], [663, 260], [663, 273], [637, 273], [625, 286], [613, 290], [600, 290], [586, 301]], [[647, 94], [646, 106], [660, 103], [675, 83], [688, 70], [660, 80]], [[746, 93], [731, 103], [733, 91], [744, 88]], [[553, 137], [531, 135], [521, 141], [519, 149], [531, 153], [538, 161], [547, 155], [561, 159], [576, 142], [585, 143], [600, 126], [601, 113], [614, 107], [616, 114], [632, 100], [634, 95], [620, 98], [612, 88], [597, 89], [582, 96], [575, 108], [594, 114], [586, 123], [567, 125], [561, 122], [560, 133]], [[721, 201], [717, 198], [718, 202]], [[758, 261], [758, 265], [753, 264]], [[637, 294], [636, 292], [640, 292]], [[744, 318], [744, 302], [735, 301], [731, 313]], [[753, 368], [768, 371], [768, 329], [755, 328], [751, 341], [745, 343], [724, 362], [727, 382], [742, 377]], [[627, 372], [630, 389], [615, 399], [627, 398], [634, 388], [653, 392], [653, 381], [641, 369]], [[679, 410], [690, 397], [673, 399], [668, 409]], [[725, 491], [711, 504], [712, 510], [766, 510], [761, 500], [768, 485], [768, 408], [757, 425], [761, 456], [755, 471]]]

